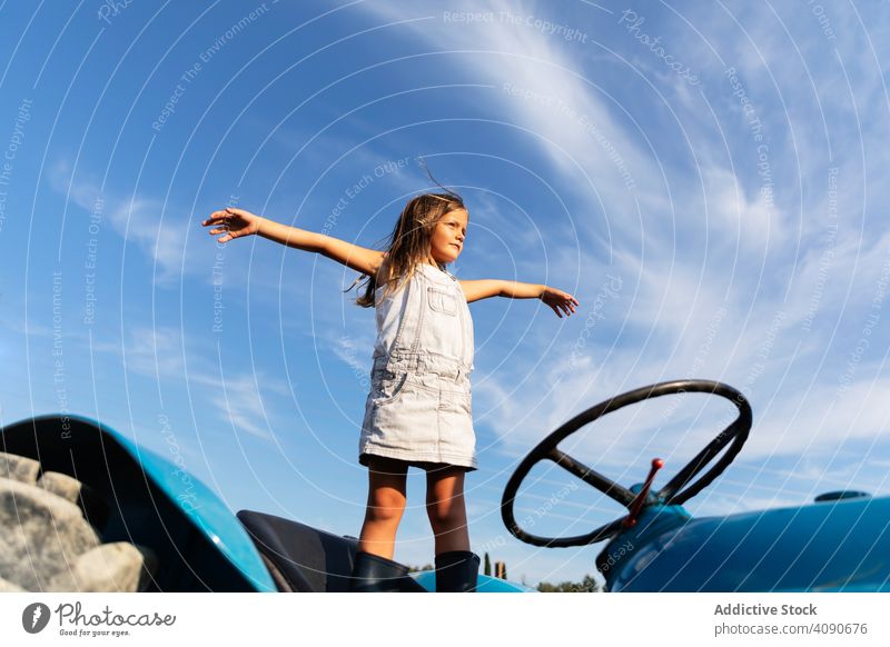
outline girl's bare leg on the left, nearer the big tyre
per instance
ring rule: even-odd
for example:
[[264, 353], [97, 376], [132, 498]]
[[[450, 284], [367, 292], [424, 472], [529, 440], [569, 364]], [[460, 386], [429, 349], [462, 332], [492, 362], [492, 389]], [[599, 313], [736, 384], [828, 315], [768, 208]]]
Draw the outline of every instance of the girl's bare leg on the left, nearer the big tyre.
[[399, 460], [372, 457], [368, 461], [368, 505], [358, 550], [393, 558], [396, 530], [405, 511], [408, 467]]

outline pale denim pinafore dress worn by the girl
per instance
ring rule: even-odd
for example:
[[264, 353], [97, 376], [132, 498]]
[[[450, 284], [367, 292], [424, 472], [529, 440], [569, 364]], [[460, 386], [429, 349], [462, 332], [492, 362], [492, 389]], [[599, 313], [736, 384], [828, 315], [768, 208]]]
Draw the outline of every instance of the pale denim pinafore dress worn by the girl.
[[418, 263], [386, 298], [375, 293], [377, 341], [358, 462], [383, 456], [429, 469], [477, 469], [469, 374], [473, 320], [457, 278]]

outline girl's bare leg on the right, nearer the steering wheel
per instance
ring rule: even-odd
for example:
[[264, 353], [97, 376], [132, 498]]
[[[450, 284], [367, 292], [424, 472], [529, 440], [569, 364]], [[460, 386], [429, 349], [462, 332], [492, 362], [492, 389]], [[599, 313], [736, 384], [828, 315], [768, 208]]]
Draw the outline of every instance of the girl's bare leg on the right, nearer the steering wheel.
[[436, 555], [449, 550], [469, 550], [464, 474], [465, 470], [459, 467], [426, 472], [426, 514], [436, 537]]

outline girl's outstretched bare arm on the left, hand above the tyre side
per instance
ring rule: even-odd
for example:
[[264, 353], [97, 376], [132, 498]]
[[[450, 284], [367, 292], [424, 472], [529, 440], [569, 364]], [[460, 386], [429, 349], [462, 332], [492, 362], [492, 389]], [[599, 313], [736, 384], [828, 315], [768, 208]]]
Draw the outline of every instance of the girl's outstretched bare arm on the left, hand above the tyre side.
[[287, 247], [322, 253], [346, 267], [372, 276], [377, 273], [384, 257], [384, 252], [376, 249], [367, 249], [333, 236], [281, 225], [250, 211], [231, 207], [227, 207], [222, 211], [214, 211], [201, 225], [215, 226], [216, 229], [211, 229], [209, 233], [211, 236], [222, 233], [217, 239], [219, 242], [257, 235]]

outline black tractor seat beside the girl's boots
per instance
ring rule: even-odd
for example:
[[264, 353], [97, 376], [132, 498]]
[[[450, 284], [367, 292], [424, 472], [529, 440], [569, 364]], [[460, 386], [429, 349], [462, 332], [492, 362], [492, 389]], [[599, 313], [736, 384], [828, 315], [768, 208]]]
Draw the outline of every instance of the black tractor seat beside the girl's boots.
[[[263, 561], [283, 593], [342, 593], [349, 588], [349, 576], [358, 549], [354, 537], [340, 537], [297, 521], [241, 510], [238, 512]], [[408, 587], [425, 591], [412, 578]], [[413, 587], [412, 587], [413, 588]]]

